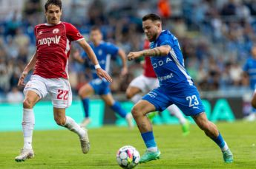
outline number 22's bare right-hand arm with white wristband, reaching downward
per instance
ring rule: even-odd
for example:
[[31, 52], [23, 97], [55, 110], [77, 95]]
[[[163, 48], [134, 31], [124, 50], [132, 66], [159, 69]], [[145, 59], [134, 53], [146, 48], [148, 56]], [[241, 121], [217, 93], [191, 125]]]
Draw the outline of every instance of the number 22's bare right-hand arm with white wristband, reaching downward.
[[78, 44], [82, 47], [82, 49], [85, 50], [85, 52], [87, 53], [87, 55], [90, 58], [91, 62], [94, 64], [95, 69], [96, 69], [96, 73], [99, 76], [99, 78], [101, 78], [101, 79], [105, 78], [106, 80], [111, 82], [112, 78], [110, 77], [110, 75], [108, 75], [108, 72], [105, 72], [105, 70], [103, 70], [99, 66], [99, 61], [96, 58], [96, 55], [93, 52], [93, 49], [91, 49], [91, 46], [85, 40], [78, 41]]

